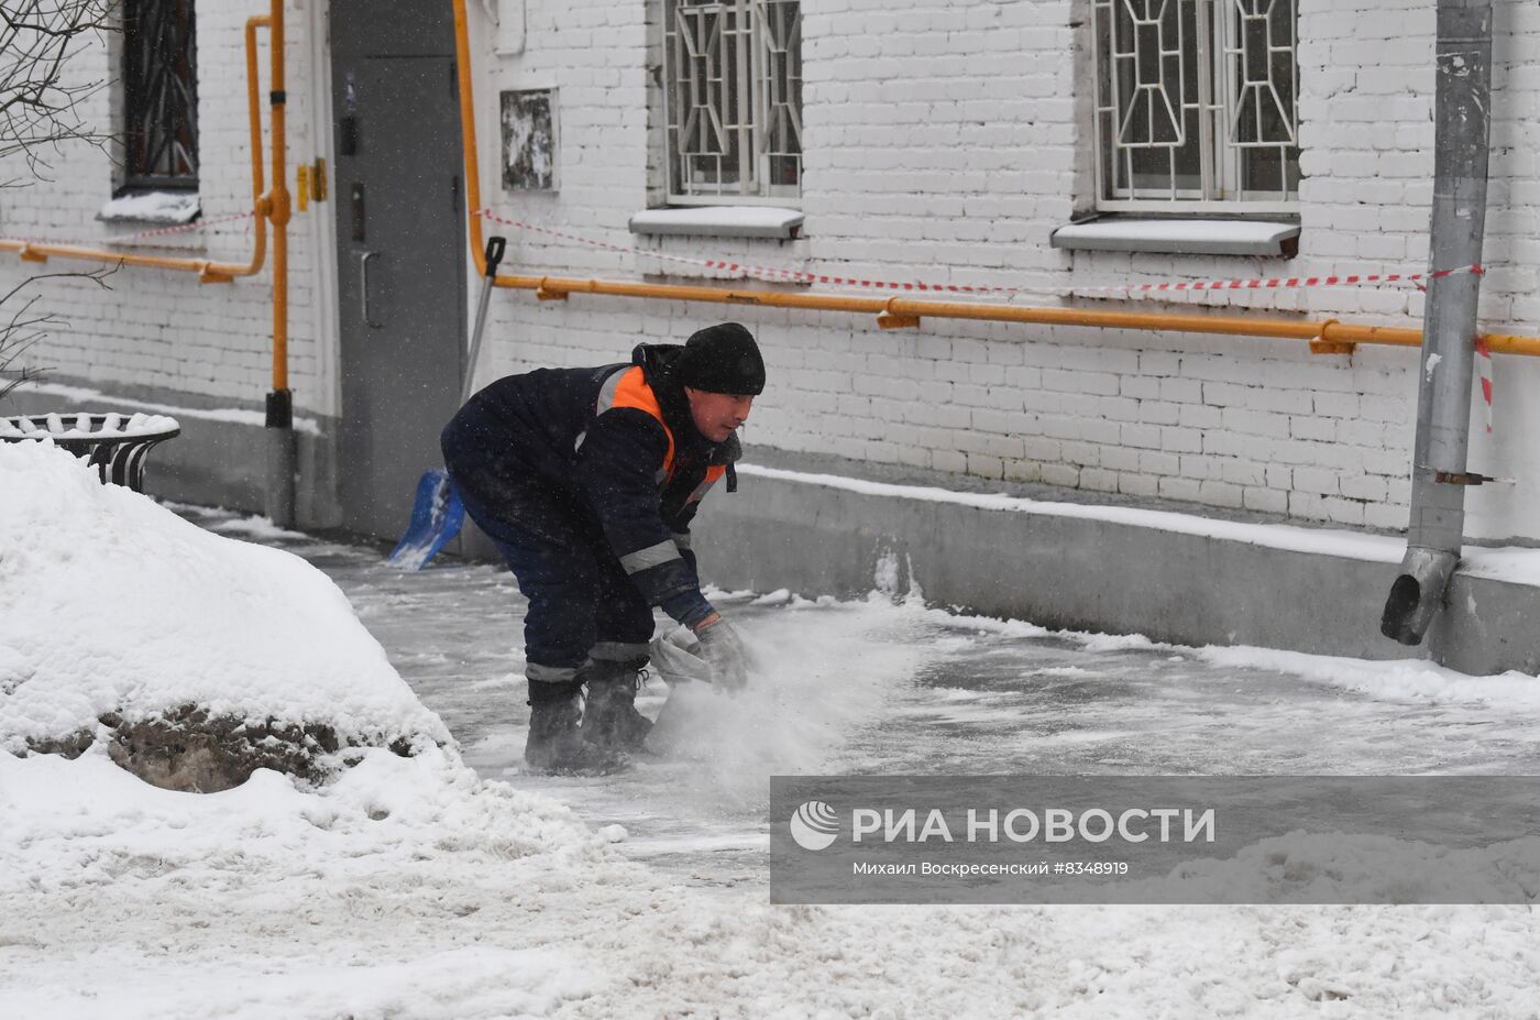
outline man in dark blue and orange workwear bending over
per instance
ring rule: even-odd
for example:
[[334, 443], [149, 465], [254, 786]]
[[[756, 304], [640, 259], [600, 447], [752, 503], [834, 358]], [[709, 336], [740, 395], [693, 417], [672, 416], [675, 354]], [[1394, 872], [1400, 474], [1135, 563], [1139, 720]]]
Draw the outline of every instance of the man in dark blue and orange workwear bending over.
[[653, 606], [699, 636], [716, 683], [745, 683], [742, 641], [701, 595], [690, 521], [718, 481], [736, 490], [736, 430], [764, 385], [753, 334], [725, 322], [630, 364], [505, 376], [444, 430], [465, 512], [530, 601], [531, 769], [610, 770], [642, 747]]

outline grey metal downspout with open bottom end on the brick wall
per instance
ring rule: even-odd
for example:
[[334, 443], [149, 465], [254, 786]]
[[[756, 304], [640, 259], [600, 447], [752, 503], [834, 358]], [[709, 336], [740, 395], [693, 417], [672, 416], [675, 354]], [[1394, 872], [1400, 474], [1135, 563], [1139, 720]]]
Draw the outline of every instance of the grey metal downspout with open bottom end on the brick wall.
[[[1438, 0], [1432, 265], [1480, 265], [1492, 92], [1491, 0]], [[1465, 538], [1466, 453], [1480, 274], [1428, 284], [1406, 558], [1380, 632], [1421, 644]]]

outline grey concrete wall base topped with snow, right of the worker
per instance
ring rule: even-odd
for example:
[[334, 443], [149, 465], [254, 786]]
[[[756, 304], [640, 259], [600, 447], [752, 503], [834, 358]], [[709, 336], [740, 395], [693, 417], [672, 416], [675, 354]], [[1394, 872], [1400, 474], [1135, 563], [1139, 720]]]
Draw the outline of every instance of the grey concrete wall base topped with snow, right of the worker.
[[853, 595], [898, 567], [899, 590], [918, 584], [927, 602], [1044, 627], [1434, 658], [1468, 673], [1540, 670], [1540, 587], [1463, 567], [1424, 647], [1380, 636], [1403, 549], [1394, 536], [1129, 507], [1029, 508], [753, 465], [741, 478], [741, 492], [713, 495], [695, 527], [702, 572], [724, 587]]

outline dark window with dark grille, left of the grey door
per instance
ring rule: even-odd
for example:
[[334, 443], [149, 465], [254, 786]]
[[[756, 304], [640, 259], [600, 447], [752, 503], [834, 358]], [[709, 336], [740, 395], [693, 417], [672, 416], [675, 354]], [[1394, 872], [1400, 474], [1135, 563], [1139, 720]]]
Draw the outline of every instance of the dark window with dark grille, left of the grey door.
[[123, 137], [129, 188], [197, 186], [192, 0], [123, 3]]

